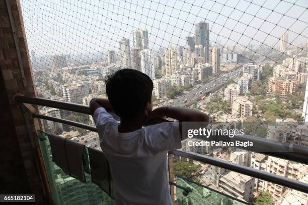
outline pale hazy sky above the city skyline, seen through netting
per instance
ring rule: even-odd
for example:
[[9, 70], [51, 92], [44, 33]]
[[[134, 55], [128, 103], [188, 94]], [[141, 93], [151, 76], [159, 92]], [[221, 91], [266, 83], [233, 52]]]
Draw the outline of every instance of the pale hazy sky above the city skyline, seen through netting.
[[123, 37], [132, 46], [134, 28], [148, 30], [149, 48], [185, 45], [201, 20], [209, 23], [212, 45], [216, 39], [273, 45], [286, 29], [290, 43], [308, 40], [307, 0], [21, 0], [21, 6], [29, 49], [38, 56], [117, 50]]

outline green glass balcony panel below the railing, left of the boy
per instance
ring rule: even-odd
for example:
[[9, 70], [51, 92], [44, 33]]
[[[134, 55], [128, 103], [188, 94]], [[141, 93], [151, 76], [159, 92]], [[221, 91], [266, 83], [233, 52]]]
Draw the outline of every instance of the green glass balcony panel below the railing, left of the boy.
[[[87, 205], [100, 204], [111, 205], [114, 200], [100, 187], [91, 182], [91, 175], [86, 173], [87, 183], [65, 174], [54, 162], [52, 162], [51, 148], [48, 137], [42, 131], [37, 131], [44, 165], [46, 168], [52, 198], [59, 205]], [[88, 156], [88, 152], [87, 156]], [[89, 156], [88, 156], [89, 157]]]

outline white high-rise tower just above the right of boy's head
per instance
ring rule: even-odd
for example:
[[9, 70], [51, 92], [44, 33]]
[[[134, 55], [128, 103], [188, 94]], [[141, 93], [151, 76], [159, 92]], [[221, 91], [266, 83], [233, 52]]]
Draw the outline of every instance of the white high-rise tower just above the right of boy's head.
[[155, 68], [153, 66], [154, 58], [150, 49], [143, 49], [141, 55], [141, 72], [148, 75], [151, 79], [155, 79]]

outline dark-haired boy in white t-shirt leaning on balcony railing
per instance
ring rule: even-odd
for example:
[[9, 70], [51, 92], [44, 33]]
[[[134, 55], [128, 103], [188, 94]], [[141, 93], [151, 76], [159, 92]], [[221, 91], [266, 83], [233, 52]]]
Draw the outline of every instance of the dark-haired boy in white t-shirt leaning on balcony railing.
[[[172, 204], [167, 177], [167, 151], [181, 148], [183, 121], [208, 122], [199, 111], [161, 107], [152, 111], [152, 80], [122, 69], [107, 77], [108, 99], [93, 98], [90, 109], [100, 145], [110, 164], [116, 204]], [[108, 112], [120, 117], [117, 122]], [[173, 118], [143, 127], [150, 120]]]

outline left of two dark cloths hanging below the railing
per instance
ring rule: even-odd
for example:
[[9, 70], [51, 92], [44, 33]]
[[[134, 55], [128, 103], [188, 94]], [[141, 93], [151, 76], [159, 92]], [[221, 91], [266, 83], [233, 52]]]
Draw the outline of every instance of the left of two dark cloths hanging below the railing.
[[47, 134], [50, 142], [52, 161], [66, 174], [86, 183], [83, 164], [85, 145], [54, 134]]

